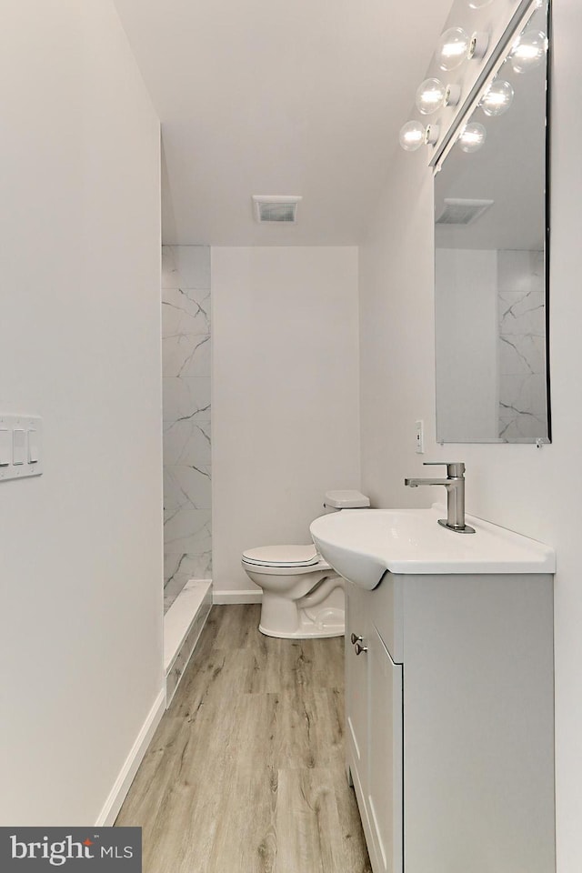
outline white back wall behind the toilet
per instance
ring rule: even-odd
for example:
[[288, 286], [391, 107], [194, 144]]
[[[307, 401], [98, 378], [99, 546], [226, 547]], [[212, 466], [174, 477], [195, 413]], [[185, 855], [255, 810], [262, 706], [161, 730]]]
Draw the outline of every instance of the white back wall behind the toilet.
[[356, 248], [213, 248], [212, 306], [213, 581], [248, 590], [245, 548], [359, 487]]

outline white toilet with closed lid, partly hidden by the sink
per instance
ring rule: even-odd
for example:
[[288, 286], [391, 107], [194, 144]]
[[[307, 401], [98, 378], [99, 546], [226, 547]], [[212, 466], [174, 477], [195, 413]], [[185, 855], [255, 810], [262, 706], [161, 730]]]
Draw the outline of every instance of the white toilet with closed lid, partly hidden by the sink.
[[[327, 491], [331, 511], [362, 509], [359, 491]], [[263, 589], [259, 630], [267, 637], [306, 639], [344, 633], [344, 580], [310, 546], [264, 546], [243, 552], [246, 575]]]

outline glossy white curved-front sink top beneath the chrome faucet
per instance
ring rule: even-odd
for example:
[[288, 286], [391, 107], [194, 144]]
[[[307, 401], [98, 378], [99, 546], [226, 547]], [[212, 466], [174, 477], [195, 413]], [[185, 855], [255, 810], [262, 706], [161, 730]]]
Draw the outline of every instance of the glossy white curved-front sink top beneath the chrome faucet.
[[505, 527], [467, 516], [476, 534], [437, 524], [443, 509], [349, 509], [321, 516], [310, 531], [340, 576], [375, 588], [392, 573], [553, 573], [553, 548]]

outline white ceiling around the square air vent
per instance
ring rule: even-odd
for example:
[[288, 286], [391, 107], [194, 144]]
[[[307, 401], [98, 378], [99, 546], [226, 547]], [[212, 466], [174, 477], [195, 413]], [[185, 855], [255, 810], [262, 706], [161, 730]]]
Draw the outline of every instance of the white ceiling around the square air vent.
[[[168, 244], [356, 245], [451, 0], [115, 0], [162, 122]], [[251, 196], [300, 195], [296, 225]]]

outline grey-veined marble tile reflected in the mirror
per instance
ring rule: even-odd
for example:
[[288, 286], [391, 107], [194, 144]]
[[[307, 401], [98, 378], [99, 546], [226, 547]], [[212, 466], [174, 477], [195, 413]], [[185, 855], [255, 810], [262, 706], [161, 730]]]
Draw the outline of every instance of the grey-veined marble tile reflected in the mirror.
[[544, 253], [497, 252], [499, 437], [547, 437]]

